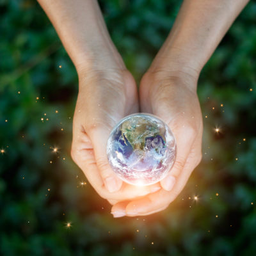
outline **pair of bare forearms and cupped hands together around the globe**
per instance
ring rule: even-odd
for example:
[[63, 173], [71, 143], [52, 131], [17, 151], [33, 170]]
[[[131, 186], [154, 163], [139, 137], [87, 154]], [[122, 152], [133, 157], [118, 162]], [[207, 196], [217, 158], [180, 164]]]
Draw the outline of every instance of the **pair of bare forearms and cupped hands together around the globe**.
[[[166, 41], [137, 91], [95, 0], [38, 0], [79, 77], [71, 156], [114, 217], [166, 209], [202, 159], [200, 72], [248, 0], [184, 0]], [[106, 156], [111, 129], [124, 116], [152, 113], [177, 141], [175, 164], [161, 182], [138, 187], [116, 177]]]

